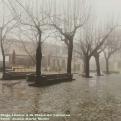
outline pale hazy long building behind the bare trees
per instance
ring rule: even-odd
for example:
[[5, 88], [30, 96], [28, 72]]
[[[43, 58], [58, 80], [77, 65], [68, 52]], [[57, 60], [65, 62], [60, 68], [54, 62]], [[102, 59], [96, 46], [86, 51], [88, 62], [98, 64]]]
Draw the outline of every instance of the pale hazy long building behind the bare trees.
[[[29, 41], [9, 40], [9, 48], [5, 51], [7, 65], [35, 67], [36, 44]], [[42, 69], [44, 71], [66, 72], [67, 48], [65, 44], [43, 44]], [[14, 54], [13, 54], [14, 53]], [[15, 56], [15, 57], [14, 57]], [[73, 55], [72, 71], [82, 71], [80, 59]]]

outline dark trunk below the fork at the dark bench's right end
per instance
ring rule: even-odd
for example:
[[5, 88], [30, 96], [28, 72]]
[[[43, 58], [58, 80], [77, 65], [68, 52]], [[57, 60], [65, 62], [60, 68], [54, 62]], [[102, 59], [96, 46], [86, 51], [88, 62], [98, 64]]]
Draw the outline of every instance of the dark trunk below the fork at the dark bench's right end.
[[67, 73], [71, 75], [71, 63], [73, 55], [73, 42], [70, 41], [68, 45], [68, 59], [67, 59]]

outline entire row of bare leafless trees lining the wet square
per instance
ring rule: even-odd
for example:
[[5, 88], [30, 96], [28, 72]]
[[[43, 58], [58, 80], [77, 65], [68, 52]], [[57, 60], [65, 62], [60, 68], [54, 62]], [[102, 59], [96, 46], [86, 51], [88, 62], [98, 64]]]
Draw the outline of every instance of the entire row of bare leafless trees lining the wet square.
[[[36, 1], [36, 2], [35, 2]], [[5, 73], [5, 54], [3, 43], [7, 33], [14, 29], [21, 30], [18, 38], [26, 36], [36, 44], [35, 55], [23, 46], [29, 56], [36, 63], [36, 75], [41, 75], [42, 62], [42, 44], [44, 38], [52, 36], [57, 37], [59, 41], [66, 44], [68, 50], [67, 73], [71, 75], [71, 65], [74, 51], [74, 44], [77, 43], [76, 52], [80, 55], [80, 59], [84, 63], [84, 76], [90, 77], [90, 59], [95, 58], [97, 75], [101, 75], [100, 71], [100, 55], [104, 53], [106, 60], [106, 72], [109, 73], [108, 62], [112, 54], [120, 49], [120, 40], [117, 35], [112, 34], [117, 25], [97, 25], [89, 22], [90, 7], [86, 0], [65, 0], [61, 3], [59, 0], [3, 0], [11, 11], [12, 20], [1, 26], [0, 42], [3, 55], [3, 73]], [[13, 24], [14, 23], [14, 24]], [[10, 25], [9, 25], [10, 24]], [[16, 26], [17, 25], [17, 26]], [[8, 26], [8, 28], [7, 28]], [[11, 26], [11, 27], [10, 27]], [[3, 33], [3, 31], [5, 32]], [[23, 32], [24, 31], [24, 32]], [[51, 34], [50, 34], [51, 33]], [[111, 36], [112, 35], [112, 36]], [[20, 38], [21, 37], [21, 38]], [[118, 45], [116, 44], [118, 43]]]

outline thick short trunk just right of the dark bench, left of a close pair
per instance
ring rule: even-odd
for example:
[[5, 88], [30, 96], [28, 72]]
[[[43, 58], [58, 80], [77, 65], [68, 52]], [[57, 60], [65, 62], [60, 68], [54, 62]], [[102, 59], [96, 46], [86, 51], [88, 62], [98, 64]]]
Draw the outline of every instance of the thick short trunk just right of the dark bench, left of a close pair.
[[90, 57], [85, 56], [84, 59], [84, 71], [85, 71], [85, 77], [90, 77], [90, 65], [89, 65]]

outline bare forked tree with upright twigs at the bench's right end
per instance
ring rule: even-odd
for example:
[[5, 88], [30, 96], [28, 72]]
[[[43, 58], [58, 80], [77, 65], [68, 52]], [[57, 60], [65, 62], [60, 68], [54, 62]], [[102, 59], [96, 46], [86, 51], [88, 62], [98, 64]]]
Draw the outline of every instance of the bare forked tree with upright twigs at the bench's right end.
[[66, 0], [65, 4], [66, 3], [66, 8], [63, 7], [63, 15], [59, 14], [58, 11], [55, 9], [54, 15], [52, 15], [52, 17], [49, 16], [49, 19], [51, 20], [50, 25], [59, 32], [61, 40], [67, 45], [67, 73], [71, 74], [73, 43], [75, 35], [78, 29], [85, 24], [89, 16], [83, 13], [83, 10], [86, 11], [86, 2], [84, 2], [84, 0], [77, 0], [76, 2], [74, 0]]

